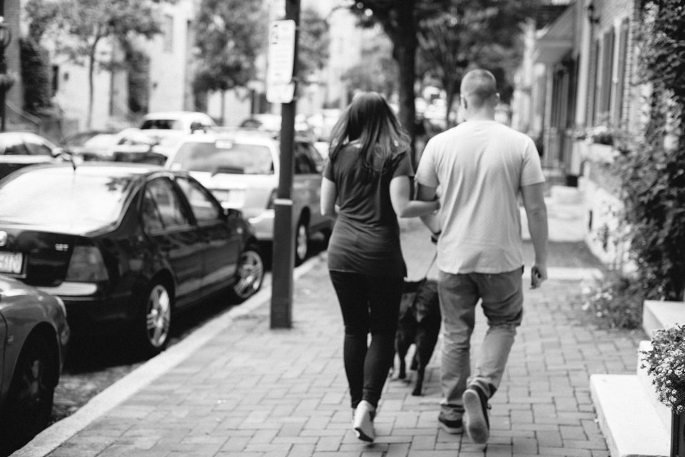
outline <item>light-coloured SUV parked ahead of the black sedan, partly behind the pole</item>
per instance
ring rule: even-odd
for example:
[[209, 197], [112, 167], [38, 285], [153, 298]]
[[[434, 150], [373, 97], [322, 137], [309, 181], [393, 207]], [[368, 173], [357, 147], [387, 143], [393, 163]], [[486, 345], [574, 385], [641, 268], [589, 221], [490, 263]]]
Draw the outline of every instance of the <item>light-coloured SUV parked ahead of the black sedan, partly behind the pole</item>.
[[[330, 232], [333, 222], [320, 210], [323, 159], [312, 143], [295, 141], [293, 230], [295, 264], [309, 251], [310, 235]], [[279, 143], [271, 135], [249, 131], [188, 135], [167, 162], [188, 170], [225, 208], [241, 210], [258, 240], [273, 241], [274, 200], [278, 190]]]

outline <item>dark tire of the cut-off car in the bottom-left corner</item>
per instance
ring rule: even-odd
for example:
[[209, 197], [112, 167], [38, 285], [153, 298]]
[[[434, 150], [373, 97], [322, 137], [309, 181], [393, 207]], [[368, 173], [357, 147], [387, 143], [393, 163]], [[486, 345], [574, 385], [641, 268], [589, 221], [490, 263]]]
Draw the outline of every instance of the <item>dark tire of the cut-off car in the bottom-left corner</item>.
[[58, 357], [47, 339], [35, 335], [29, 336], [21, 349], [3, 418], [6, 438], [16, 446], [24, 446], [50, 421], [59, 377]]

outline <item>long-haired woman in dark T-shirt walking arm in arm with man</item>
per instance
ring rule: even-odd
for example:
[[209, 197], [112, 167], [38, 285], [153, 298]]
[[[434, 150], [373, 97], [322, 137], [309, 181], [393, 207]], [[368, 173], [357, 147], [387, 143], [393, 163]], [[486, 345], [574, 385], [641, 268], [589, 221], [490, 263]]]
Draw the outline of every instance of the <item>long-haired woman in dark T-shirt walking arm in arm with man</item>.
[[321, 185], [321, 212], [336, 218], [328, 269], [345, 324], [353, 427], [358, 438], [373, 441], [407, 275], [397, 216], [426, 215], [439, 203], [410, 200], [409, 142], [377, 93], [355, 97], [333, 128], [330, 151]]

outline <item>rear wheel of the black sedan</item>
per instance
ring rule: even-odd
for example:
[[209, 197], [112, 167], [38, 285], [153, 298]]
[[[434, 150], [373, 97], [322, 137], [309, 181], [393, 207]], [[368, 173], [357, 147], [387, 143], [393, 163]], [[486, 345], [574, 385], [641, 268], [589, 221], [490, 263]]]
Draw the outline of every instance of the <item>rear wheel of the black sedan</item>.
[[173, 290], [166, 281], [156, 279], [143, 294], [136, 333], [141, 354], [151, 357], [166, 349], [171, 337]]

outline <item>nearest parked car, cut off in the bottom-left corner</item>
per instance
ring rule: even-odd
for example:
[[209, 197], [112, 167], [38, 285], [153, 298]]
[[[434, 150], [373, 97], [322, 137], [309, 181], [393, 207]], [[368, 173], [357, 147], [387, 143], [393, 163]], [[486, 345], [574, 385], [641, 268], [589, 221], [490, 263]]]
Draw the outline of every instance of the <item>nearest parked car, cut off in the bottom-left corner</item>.
[[[6, 240], [0, 231], [0, 246]], [[15, 262], [0, 251], [0, 270]], [[1, 445], [23, 446], [48, 425], [68, 339], [61, 299], [0, 276]]]

